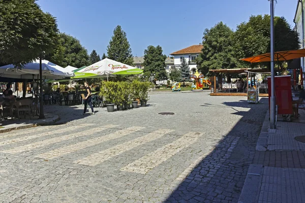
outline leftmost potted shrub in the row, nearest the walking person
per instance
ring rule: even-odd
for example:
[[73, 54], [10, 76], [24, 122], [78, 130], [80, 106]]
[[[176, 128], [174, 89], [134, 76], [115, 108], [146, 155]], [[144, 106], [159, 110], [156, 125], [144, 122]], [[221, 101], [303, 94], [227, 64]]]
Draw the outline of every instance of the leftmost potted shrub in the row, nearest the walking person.
[[113, 112], [114, 111], [114, 105], [115, 105], [115, 97], [116, 97], [116, 89], [117, 85], [115, 82], [104, 82], [101, 87], [100, 96], [104, 96], [107, 101], [107, 111]]

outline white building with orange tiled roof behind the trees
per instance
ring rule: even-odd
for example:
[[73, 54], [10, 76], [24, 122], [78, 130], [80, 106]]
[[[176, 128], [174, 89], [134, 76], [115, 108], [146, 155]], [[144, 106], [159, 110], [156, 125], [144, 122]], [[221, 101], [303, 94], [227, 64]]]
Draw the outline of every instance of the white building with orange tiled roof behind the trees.
[[203, 46], [199, 44], [171, 53], [170, 55], [174, 56], [175, 67], [179, 67], [181, 65], [182, 58], [185, 57], [185, 59], [189, 62], [190, 72], [195, 73], [197, 69], [196, 58], [198, 57], [199, 53], [201, 53], [202, 48]]

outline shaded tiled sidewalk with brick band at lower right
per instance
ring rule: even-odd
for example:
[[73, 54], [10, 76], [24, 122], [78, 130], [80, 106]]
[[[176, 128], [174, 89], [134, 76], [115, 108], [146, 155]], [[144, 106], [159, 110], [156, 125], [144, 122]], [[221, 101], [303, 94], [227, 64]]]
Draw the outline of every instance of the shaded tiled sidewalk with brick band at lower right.
[[305, 111], [299, 113], [277, 129], [269, 129], [267, 113], [238, 202], [305, 202]]

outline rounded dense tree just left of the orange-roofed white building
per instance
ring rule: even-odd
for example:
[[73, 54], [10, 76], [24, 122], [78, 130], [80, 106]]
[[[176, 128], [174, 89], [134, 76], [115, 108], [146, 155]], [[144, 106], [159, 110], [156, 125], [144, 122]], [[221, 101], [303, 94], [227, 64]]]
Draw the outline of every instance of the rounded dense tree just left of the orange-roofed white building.
[[144, 74], [156, 74], [156, 79], [158, 80], [166, 80], [168, 78], [167, 73], [165, 71], [165, 59], [167, 58], [164, 55], [161, 46], [148, 46], [147, 49], [144, 50], [144, 62], [142, 65], [144, 66]]

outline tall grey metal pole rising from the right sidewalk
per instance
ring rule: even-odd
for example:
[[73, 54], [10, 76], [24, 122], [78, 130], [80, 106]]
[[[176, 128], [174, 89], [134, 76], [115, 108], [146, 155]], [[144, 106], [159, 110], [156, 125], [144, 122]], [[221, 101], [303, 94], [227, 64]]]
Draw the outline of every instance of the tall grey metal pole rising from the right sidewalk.
[[273, 27], [273, 0], [270, 0], [270, 54], [271, 54], [271, 97], [270, 97], [270, 128], [276, 129], [276, 96], [275, 96], [275, 50]]

